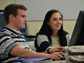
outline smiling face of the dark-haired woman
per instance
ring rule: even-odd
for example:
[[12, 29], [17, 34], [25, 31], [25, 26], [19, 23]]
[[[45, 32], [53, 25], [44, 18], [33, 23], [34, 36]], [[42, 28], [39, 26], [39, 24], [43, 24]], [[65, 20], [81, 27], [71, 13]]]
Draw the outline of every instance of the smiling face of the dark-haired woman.
[[48, 25], [51, 27], [52, 31], [60, 30], [62, 26], [62, 16], [59, 12], [53, 13]]

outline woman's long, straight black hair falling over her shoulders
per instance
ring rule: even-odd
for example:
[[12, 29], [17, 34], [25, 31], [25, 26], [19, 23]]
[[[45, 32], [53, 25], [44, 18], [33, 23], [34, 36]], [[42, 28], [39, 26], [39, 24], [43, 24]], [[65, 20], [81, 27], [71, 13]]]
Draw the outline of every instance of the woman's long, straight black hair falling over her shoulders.
[[[50, 44], [52, 44], [51, 37], [50, 37], [52, 35], [52, 29], [50, 28], [50, 26], [47, 23], [48, 23], [48, 21], [50, 21], [50, 18], [52, 16], [52, 14], [53, 13], [57, 13], [57, 12], [59, 12], [59, 11], [55, 10], [55, 9], [52, 9], [52, 10], [50, 10], [50, 11], [47, 12], [47, 14], [45, 15], [45, 18], [44, 18], [43, 25], [42, 25], [40, 31], [36, 35], [36, 37], [38, 36], [38, 34], [39, 35], [41, 35], [41, 34], [47, 35]], [[61, 13], [60, 13], [60, 15], [61, 15], [62, 21], [63, 21], [63, 16], [62, 16]], [[61, 28], [60, 28], [60, 30], [58, 31], [59, 42], [60, 42], [61, 46], [66, 46], [67, 45], [67, 41], [66, 41], [66, 37], [65, 37], [66, 33], [67, 32], [65, 32], [63, 30], [63, 25], [62, 25]], [[37, 39], [35, 40], [35, 44], [37, 44]], [[37, 45], [35, 45], [35, 47], [37, 47]]]

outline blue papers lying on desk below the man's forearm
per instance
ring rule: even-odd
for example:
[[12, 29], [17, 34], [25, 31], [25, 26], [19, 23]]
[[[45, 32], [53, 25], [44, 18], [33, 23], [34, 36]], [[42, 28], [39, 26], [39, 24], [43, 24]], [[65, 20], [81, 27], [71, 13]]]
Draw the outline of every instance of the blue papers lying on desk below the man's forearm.
[[14, 62], [25, 62], [25, 63], [39, 63], [39, 62], [50, 62], [52, 61], [52, 59], [48, 59], [48, 58], [32, 58], [32, 59], [17, 59], [17, 60], [13, 60]]

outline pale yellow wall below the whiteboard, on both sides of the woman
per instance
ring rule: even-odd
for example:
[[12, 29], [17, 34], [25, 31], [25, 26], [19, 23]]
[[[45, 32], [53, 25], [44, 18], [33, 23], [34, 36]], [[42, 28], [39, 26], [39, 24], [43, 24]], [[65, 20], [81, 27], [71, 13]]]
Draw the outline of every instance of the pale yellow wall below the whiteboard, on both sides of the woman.
[[[28, 21], [28, 34], [29, 35], [36, 35], [40, 27], [42, 26], [43, 21]], [[63, 28], [70, 35], [72, 35], [76, 20], [64, 20], [63, 21]]]

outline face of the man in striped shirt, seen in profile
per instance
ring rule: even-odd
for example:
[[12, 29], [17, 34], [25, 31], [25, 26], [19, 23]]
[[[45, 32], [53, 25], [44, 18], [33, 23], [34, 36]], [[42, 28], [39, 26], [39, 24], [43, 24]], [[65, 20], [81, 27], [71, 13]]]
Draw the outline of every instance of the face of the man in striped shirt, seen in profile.
[[26, 21], [27, 21], [27, 19], [26, 19], [26, 12], [25, 12], [25, 10], [18, 9], [18, 14], [14, 18], [15, 27], [17, 29], [25, 28]]

